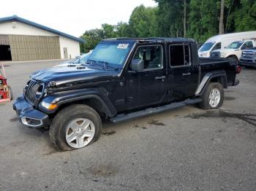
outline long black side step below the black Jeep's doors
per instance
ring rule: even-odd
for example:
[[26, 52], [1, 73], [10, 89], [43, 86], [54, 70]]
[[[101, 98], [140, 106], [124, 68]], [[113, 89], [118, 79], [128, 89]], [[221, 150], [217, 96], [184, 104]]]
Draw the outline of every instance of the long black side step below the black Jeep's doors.
[[165, 112], [167, 110], [175, 109], [180, 106], [186, 106], [189, 104], [197, 104], [197, 103], [200, 103], [201, 101], [202, 101], [201, 98], [187, 99], [185, 101], [175, 102], [173, 104], [168, 104], [165, 106], [147, 108], [147, 109], [144, 109], [139, 112], [132, 112], [129, 114], [118, 114], [118, 115], [116, 115], [116, 117], [110, 118], [110, 121], [114, 122], [114, 123], [123, 122], [123, 121], [127, 121], [127, 120], [132, 120], [137, 117], [143, 117], [143, 116], [147, 116], [150, 114], [157, 114], [159, 112]]

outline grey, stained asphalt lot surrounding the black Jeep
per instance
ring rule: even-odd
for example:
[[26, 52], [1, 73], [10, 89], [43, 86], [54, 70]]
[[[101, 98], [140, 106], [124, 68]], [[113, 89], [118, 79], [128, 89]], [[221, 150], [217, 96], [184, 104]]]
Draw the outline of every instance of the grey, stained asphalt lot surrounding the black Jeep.
[[[6, 63], [14, 96], [60, 61]], [[221, 109], [184, 106], [119, 124], [99, 141], [56, 152], [48, 132], [0, 104], [0, 190], [256, 190], [256, 70], [243, 69]]]

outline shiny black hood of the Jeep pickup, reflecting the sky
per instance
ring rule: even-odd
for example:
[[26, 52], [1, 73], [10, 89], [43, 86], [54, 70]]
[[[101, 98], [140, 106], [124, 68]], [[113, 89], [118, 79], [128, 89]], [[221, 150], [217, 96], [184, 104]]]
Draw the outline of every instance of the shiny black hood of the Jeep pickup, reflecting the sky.
[[54, 81], [56, 85], [62, 85], [69, 82], [94, 82], [107, 80], [117, 77], [119, 72], [120, 69], [104, 70], [81, 65], [68, 65], [60, 67], [55, 66], [49, 69], [36, 71], [31, 75], [31, 78], [45, 82], [46, 84]]

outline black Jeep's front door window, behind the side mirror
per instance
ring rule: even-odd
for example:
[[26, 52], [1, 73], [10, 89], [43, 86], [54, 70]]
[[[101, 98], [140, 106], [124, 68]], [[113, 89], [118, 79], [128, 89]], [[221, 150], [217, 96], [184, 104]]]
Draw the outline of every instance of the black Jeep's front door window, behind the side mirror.
[[133, 59], [142, 59], [144, 61], [144, 70], [162, 69], [162, 46], [138, 47]]

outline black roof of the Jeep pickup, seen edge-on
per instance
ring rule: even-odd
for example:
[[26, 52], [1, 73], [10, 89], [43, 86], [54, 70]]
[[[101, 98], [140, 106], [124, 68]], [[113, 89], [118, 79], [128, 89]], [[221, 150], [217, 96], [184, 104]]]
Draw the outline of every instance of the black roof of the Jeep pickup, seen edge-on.
[[150, 37], [150, 38], [112, 38], [112, 39], [103, 39], [103, 41], [139, 41], [139, 42], [195, 42], [194, 39], [185, 39], [185, 38], [170, 38], [170, 37]]

